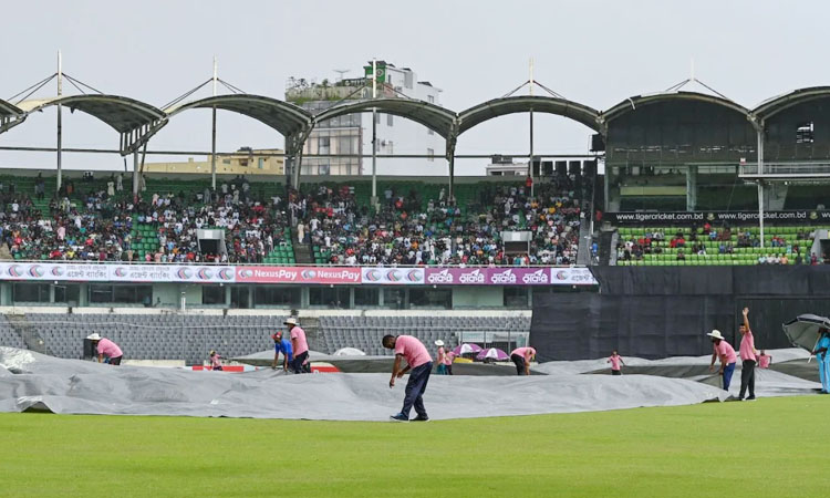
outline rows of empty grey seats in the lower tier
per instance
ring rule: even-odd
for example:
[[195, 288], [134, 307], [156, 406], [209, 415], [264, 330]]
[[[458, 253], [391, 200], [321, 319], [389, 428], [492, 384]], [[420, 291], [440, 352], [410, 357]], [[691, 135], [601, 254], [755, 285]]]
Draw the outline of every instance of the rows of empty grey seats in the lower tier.
[[[58, 357], [81, 359], [83, 340], [92, 332], [115, 341], [127, 360], [184, 360], [201, 364], [210, 350], [224, 357], [243, 356], [271, 350], [270, 334], [284, 329], [284, 315], [199, 315], [177, 313], [25, 313], [12, 324], [0, 315], [0, 345], [27, 347], [19, 330], [25, 328], [43, 341], [44, 352]], [[301, 323], [302, 324], [302, 323]], [[450, 347], [465, 339], [483, 333], [530, 331], [530, 317], [321, 317], [317, 330], [309, 329], [310, 345], [332, 354], [343, 347], [356, 347], [370, 355], [391, 355], [381, 346], [387, 333], [419, 338], [432, 350], [432, 343], [444, 340]], [[15, 330], [15, 328], [18, 330]]]

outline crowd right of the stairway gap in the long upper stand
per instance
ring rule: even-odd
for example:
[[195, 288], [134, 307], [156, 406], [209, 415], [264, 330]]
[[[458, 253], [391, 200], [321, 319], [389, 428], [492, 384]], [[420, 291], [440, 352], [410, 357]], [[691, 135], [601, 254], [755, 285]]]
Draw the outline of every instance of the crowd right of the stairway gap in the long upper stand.
[[[416, 190], [387, 189], [377, 211], [359, 207], [349, 187], [320, 186], [292, 199], [298, 238], [319, 246], [336, 264], [571, 264], [579, 246], [580, 206], [572, 179], [537, 186], [489, 186], [466, 206], [442, 189], [424, 200]], [[529, 251], [508, 255], [506, 230], [531, 234]]]

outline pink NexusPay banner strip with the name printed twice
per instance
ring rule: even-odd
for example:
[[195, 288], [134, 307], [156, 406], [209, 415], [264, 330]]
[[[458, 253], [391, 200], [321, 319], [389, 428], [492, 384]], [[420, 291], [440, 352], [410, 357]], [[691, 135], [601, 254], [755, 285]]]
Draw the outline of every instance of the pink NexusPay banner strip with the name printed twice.
[[361, 283], [355, 267], [237, 267], [237, 283]]

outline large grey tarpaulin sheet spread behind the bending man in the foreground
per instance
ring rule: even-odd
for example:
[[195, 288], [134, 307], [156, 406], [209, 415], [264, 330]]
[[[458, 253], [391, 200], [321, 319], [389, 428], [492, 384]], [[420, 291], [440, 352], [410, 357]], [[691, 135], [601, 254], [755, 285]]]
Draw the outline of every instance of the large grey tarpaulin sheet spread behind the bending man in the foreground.
[[[386, 421], [401, 408], [406, 377], [284, 375], [110, 366], [0, 347], [0, 412]], [[429, 378], [435, 419], [673, 406], [723, 400], [706, 384], [630, 375], [448, 376]], [[414, 416], [414, 414], [413, 414]]]

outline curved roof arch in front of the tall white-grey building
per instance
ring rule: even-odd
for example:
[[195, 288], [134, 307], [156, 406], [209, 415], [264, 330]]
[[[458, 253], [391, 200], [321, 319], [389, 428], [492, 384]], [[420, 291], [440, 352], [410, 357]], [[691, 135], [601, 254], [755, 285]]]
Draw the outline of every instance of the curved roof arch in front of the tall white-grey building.
[[456, 121], [454, 112], [428, 102], [409, 98], [375, 98], [349, 102], [329, 107], [314, 116], [314, 123], [317, 124], [321, 121], [346, 114], [363, 113], [371, 111], [373, 107], [381, 113], [393, 114], [421, 123], [444, 138], [448, 138], [452, 135]]

